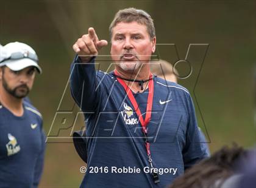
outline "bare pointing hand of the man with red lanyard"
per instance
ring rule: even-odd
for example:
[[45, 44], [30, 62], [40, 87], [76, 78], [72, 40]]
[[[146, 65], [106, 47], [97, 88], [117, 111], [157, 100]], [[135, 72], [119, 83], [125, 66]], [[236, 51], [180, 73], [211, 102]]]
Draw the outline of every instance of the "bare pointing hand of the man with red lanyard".
[[99, 41], [95, 30], [90, 27], [87, 35], [77, 39], [73, 45], [73, 50], [80, 56], [82, 61], [88, 62], [92, 56], [98, 55], [98, 51], [105, 45], [107, 45], [107, 41]]

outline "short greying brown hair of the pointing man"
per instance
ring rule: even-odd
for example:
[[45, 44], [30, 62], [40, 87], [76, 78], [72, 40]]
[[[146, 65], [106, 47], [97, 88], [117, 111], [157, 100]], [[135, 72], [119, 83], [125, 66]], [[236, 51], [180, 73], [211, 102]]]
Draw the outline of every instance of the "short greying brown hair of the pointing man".
[[151, 16], [146, 13], [144, 10], [136, 9], [136, 8], [125, 8], [123, 10], [119, 10], [112, 23], [109, 26], [110, 38], [112, 38], [112, 30], [113, 27], [116, 26], [119, 22], [130, 23], [136, 21], [138, 24], [146, 25], [149, 36], [151, 39], [155, 36], [155, 27], [154, 22]]

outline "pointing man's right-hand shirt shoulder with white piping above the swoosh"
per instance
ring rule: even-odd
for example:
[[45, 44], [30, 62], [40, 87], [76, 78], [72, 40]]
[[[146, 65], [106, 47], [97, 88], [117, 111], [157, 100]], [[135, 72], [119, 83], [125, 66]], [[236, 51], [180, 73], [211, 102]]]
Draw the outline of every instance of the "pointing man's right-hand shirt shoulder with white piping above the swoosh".
[[180, 84], [175, 82], [168, 81], [166, 79], [158, 78], [156, 80], [156, 86], [159, 87], [161, 90], [172, 90], [179, 93], [185, 93], [186, 95], [190, 95], [190, 92]]

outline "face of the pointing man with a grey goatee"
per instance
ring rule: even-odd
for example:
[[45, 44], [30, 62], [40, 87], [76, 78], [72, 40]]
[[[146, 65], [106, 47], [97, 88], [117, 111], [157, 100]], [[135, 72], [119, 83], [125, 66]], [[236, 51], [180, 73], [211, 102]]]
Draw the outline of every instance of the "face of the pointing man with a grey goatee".
[[112, 30], [112, 60], [125, 71], [133, 71], [148, 63], [155, 52], [156, 38], [151, 39], [146, 25], [119, 22]]

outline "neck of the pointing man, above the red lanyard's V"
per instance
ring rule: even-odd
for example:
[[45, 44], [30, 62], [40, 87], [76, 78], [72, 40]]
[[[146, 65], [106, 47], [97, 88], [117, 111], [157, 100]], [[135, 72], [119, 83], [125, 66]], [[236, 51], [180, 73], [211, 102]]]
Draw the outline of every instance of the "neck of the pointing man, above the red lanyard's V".
[[[143, 66], [141, 69], [132, 70], [132, 71], [126, 71], [121, 69], [119, 66], [116, 66], [116, 71], [118, 72], [119, 76], [126, 79], [136, 79], [136, 80], [147, 80], [150, 76], [150, 70], [149, 66]], [[138, 84], [138, 82], [132, 82], [132, 81], [126, 81], [126, 84], [130, 87], [130, 89], [134, 92], [144, 92], [148, 88], [148, 82], [143, 83], [143, 90], [141, 90], [141, 86]]]

